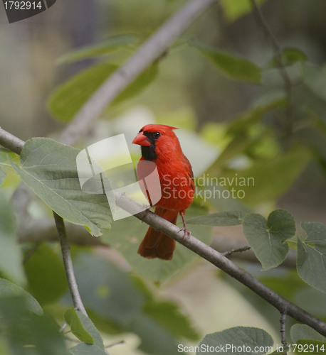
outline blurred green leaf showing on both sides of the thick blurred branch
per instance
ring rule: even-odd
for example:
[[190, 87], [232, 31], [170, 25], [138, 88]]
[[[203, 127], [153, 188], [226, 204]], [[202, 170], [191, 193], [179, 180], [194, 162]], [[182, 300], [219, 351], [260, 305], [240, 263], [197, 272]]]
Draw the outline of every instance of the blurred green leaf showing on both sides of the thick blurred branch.
[[[104, 62], [78, 73], [53, 92], [48, 99], [49, 111], [61, 121], [70, 121], [83, 107], [83, 104], [107, 80], [107, 77], [112, 75], [117, 69], [117, 65]], [[126, 99], [139, 94], [144, 87], [157, 77], [157, 73], [157, 64], [148, 67], [129, 87], [118, 95], [111, 106], [120, 104]]]

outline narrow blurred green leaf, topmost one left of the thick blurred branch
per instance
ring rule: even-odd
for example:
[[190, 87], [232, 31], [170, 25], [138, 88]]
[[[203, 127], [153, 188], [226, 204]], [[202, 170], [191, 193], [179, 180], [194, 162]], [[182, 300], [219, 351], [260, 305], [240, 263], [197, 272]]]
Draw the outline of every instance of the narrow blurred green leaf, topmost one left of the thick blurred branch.
[[78, 48], [77, 50], [73, 50], [72, 52], [63, 55], [58, 59], [58, 64], [77, 62], [78, 60], [95, 58], [100, 55], [105, 55], [107, 53], [113, 52], [114, 50], [134, 45], [137, 40], [137, 35], [115, 35], [105, 42]]

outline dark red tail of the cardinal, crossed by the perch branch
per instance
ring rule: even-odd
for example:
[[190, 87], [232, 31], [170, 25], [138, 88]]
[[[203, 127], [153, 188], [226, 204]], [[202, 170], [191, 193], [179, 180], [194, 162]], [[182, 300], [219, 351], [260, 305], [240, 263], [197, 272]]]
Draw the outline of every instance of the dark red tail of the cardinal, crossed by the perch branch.
[[[177, 211], [169, 211], [161, 207], [155, 208], [155, 213], [167, 221], [176, 224], [178, 218]], [[155, 231], [149, 227], [138, 253], [144, 258], [159, 258], [162, 260], [171, 260], [175, 249], [175, 241], [161, 231]]]

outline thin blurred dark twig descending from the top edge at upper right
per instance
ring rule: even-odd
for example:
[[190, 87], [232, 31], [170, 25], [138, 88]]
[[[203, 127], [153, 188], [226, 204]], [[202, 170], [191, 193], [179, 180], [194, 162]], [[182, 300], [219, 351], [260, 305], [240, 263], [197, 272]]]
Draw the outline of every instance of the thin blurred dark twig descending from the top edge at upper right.
[[290, 136], [293, 133], [293, 123], [294, 123], [294, 116], [293, 116], [293, 83], [288, 75], [288, 71], [286, 70], [285, 65], [283, 64], [282, 60], [282, 49], [280, 48], [280, 44], [278, 40], [275, 38], [275, 35], [270, 30], [268, 23], [265, 21], [263, 13], [261, 12], [261, 8], [258, 6], [256, 0], [251, 0], [251, 5], [253, 7], [253, 16], [256, 18], [256, 22], [258, 26], [261, 27], [265, 36], [270, 40], [271, 45], [273, 46], [273, 50], [275, 53], [275, 60], [278, 64], [280, 69], [280, 75], [283, 78], [285, 84], [285, 91], [288, 96], [288, 135]]

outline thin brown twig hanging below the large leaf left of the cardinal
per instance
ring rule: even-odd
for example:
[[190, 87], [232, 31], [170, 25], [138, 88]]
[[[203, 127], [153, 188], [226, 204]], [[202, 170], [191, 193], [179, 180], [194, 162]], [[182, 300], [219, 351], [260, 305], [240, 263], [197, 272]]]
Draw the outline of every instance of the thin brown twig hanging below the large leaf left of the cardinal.
[[87, 316], [87, 312], [81, 300], [78, 285], [75, 279], [75, 273], [73, 272], [73, 261], [70, 254], [70, 246], [68, 244], [67, 234], [65, 232], [65, 222], [63, 218], [60, 217], [56, 212], [53, 211], [54, 220], [56, 221], [56, 227], [58, 229], [60, 244], [61, 244], [61, 253], [63, 257], [63, 264], [65, 266], [65, 275], [68, 280], [70, 295], [73, 298], [73, 307], [76, 310], [79, 310], [84, 315]]

